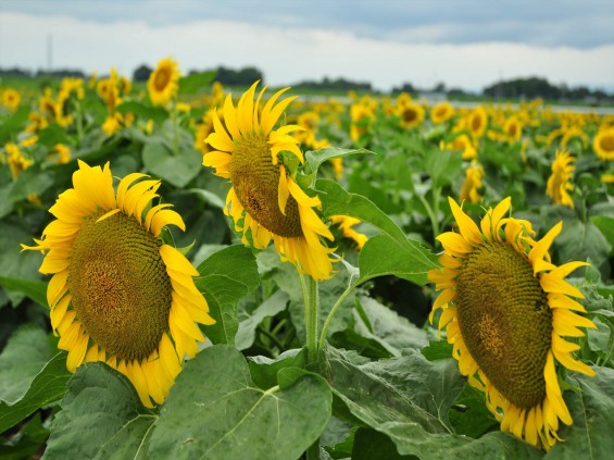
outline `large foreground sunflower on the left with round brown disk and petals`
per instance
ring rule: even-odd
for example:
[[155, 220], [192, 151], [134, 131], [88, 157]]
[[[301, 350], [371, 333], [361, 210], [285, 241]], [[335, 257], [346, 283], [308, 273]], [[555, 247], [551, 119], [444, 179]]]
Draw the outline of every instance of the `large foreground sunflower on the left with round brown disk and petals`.
[[90, 167], [79, 160], [73, 187], [49, 212], [57, 220], [36, 246], [47, 252], [40, 272], [52, 274], [47, 289], [58, 347], [68, 351], [74, 372], [102, 361], [126, 375], [142, 403], [162, 403], [184, 357], [204, 340], [195, 323], [212, 324], [196, 288], [198, 272], [160, 237], [166, 225], [185, 229], [170, 204], [150, 206], [159, 181], [134, 173], [117, 192], [109, 163]]

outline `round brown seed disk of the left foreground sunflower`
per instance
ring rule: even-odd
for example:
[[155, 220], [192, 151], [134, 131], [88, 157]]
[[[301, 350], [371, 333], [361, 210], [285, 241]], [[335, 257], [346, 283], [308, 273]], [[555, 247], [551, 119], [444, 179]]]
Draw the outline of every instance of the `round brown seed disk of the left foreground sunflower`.
[[70, 256], [77, 318], [108, 357], [147, 358], [168, 326], [173, 287], [162, 241], [121, 212], [84, 221]]

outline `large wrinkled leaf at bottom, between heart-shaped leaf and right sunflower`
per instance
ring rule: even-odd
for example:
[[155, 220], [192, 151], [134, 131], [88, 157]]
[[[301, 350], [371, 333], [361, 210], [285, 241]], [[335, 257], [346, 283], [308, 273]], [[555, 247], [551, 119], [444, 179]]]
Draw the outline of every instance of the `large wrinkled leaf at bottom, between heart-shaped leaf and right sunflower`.
[[326, 347], [333, 393], [365, 425], [387, 435], [401, 455], [421, 459], [538, 458], [537, 449], [506, 433], [479, 439], [453, 434], [448, 411], [465, 382], [454, 360], [427, 361], [418, 351], [361, 362]]

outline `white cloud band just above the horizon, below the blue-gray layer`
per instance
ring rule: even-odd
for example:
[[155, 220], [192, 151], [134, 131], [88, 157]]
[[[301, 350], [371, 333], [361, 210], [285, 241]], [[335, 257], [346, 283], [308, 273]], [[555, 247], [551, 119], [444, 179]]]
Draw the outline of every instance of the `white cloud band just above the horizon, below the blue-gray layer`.
[[609, 87], [614, 82], [614, 45], [581, 50], [506, 42], [411, 45], [233, 21], [151, 26], [21, 13], [0, 13], [0, 66], [45, 67], [50, 34], [55, 69], [106, 72], [114, 65], [128, 76], [142, 63], [154, 66], [172, 55], [183, 71], [254, 65], [272, 85], [323, 76], [367, 80], [384, 90], [404, 82], [480, 89], [501, 77], [522, 76], [571, 86]]

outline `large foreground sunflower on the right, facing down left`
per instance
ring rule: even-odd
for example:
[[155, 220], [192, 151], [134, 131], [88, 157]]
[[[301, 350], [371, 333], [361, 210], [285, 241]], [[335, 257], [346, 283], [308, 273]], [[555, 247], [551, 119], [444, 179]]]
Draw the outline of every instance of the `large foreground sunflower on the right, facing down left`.
[[486, 394], [501, 430], [548, 450], [560, 439], [559, 421], [572, 424], [556, 363], [594, 375], [572, 357], [580, 347], [562, 338], [581, 337], [578, 327], [594, 327], [573, 312], [586, 311], [572, 299], [584, 296], [564, 281], [587, 263], [552, 264], [548, 250], [562, 223], [536, 241], [528, 221], [503, 219], [510, 198], [489, 209], [480, 227], [449, 201], [460, 233], [437, 237], [443, 269], [428, 274], [441, 290], [430, 322], [442, 310], [439, 328], [447, 328], [461, 373]]

